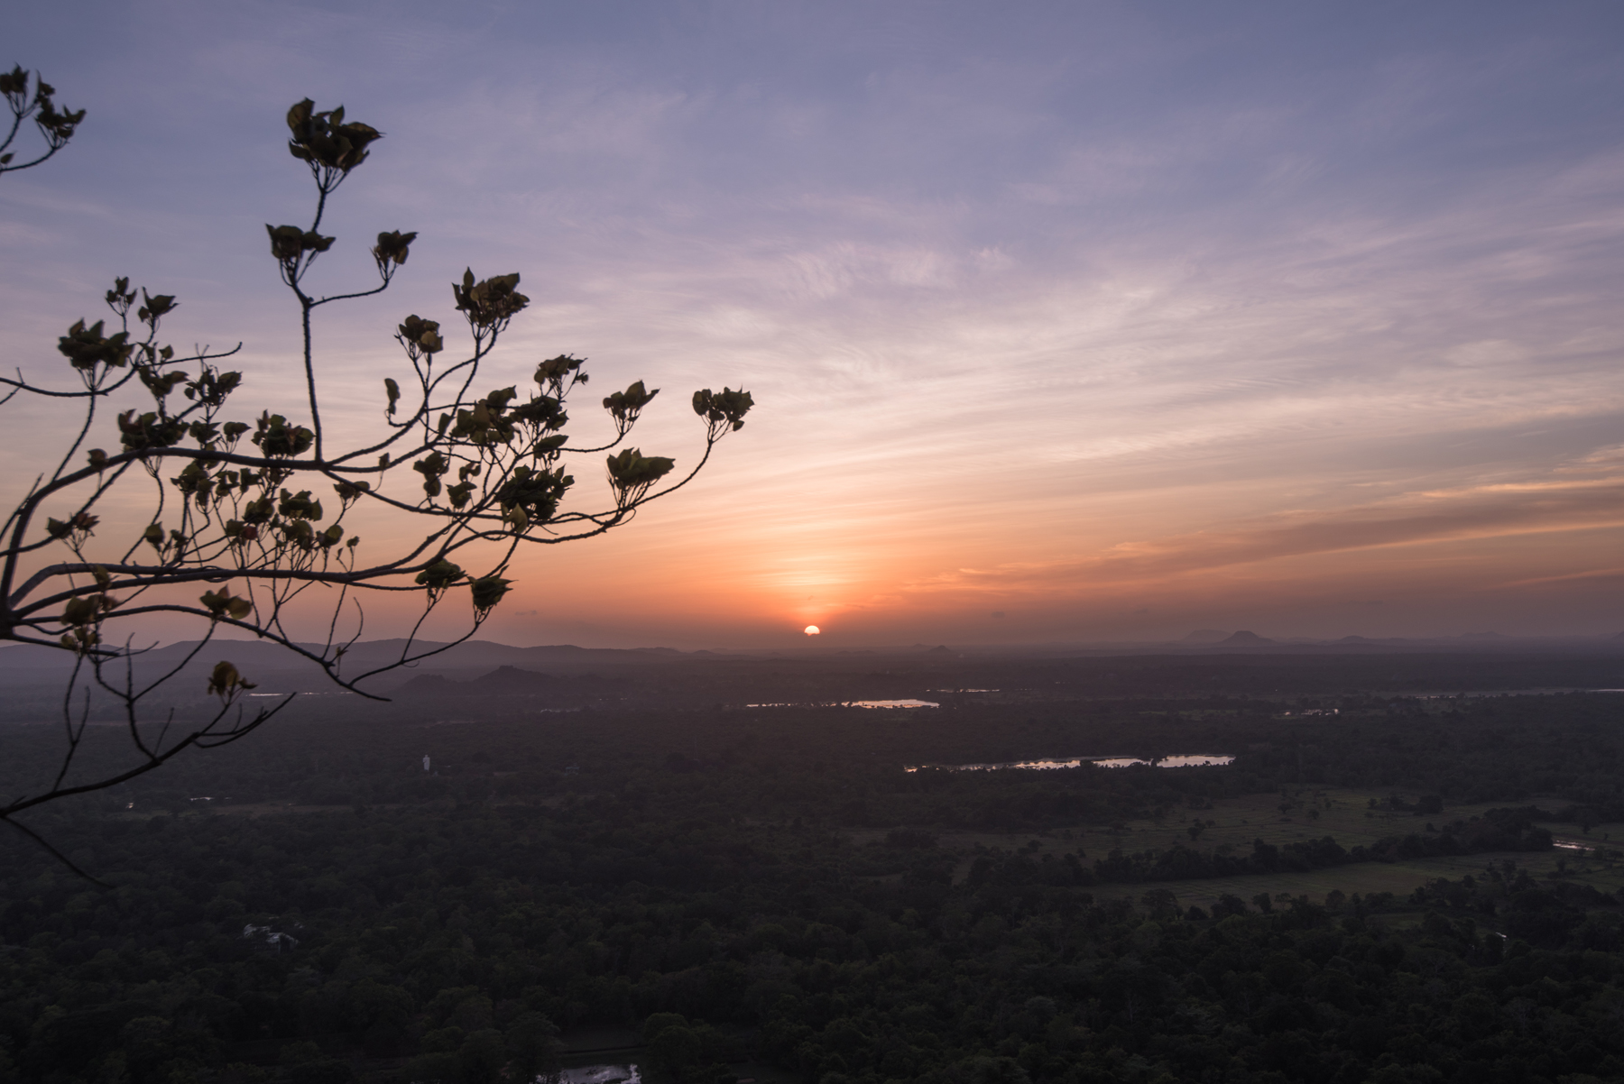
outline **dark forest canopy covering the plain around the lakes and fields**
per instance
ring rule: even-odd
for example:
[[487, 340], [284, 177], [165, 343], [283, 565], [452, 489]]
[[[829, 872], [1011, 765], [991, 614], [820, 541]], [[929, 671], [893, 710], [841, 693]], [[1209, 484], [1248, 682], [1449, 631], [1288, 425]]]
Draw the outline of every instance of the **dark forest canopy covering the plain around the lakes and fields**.
[[[1593, 756], [1609, 704], [1544, 699], [1549, 748]], [[1147, 727], [1143, 708], [1075, 706], [1075, 733], [1192, 729]], [[555, 1029], [581, 1026], [640, 1027], [645, 1066], [690, 1084], [726, 1081], [744, 1056], [823, 1084], [1624, 1073], [1616, 901], [1510, 860], [1400, 901], [1226, 896], [1207, 912], [1153, 884], [1132, 902], [1086, 888], [1210, 862], [1195, 849], [983, 849], [955, 878], [939, 842], [963, 826], [1109, 821], [1273, 789], [1298, 771], [1273, 751], [1215, 771], [909, 774], [892, 750], [1031, 755], [1028, 729], [1057, 722], [1000, 729], [979, 712], [960, 729], [953, 712], [926, 725], [828, 709], [422, 727], [351, 714], [216, 759], [214, 803], [185, 802], [174, 787], [200, 777], [177, 771], [63, 808], [54, 837], [112, 893], [24, 847], [0, 854], [0, 1079], [495, 1081], [544, 1069]], [[1429, 725], [1457, 724], [1434, 714], [1405, 732]], [[1286, 745], [1267, 717], [1224, 729]], [[29, 729], [13, 733], [26, 753]], [[1551, 759], [1541, 771], [1583, 785], [1590, 764]], [[1491, 781], [1471, 785], [1523, 771], [1484, 763]], [[1437, 776], [1416, 789], [1450, 792]], [[1233, 862], [1294, 870], [1548, 842], [1533, 828], [1544, 811], [1504, 790], [1507, 805], [1476, 821], [1364, 855], [1319, 839]], [[177, 815], [224, 794], [261, 813]], [[341, 808], [273, 811], [292, 800]]]

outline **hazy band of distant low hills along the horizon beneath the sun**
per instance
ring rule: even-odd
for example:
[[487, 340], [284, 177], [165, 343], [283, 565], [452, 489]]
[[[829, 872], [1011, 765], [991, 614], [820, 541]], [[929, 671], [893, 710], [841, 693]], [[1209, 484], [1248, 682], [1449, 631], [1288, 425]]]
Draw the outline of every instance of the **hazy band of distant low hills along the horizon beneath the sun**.
[[[158, 693], [182, 711], [208, 709], [209, 667], [234, 657], [244, 675], [261, 688], [335, 693], [320, 673], [291, 669], [294, 659], [265, 651], [266, 644], [221, 643], [200, 656], [192, 670]], [[372, 647], [372, 651], [365, 651]], [[1413, 690], [1517, 691], [1540, 688], [1624, 688], [1624, 643], [1598, 641], [1593, 652], [1527, 654], [1522, 651], [1398, 652], [1390, 647], [1351, 651], [1283, 649], [1278, 652], [1182, 652], [1073, 657], [960, 656], [957, 652], [853, 652], [822, 657], [718, 657], [676, 652], [546, 652], [529, 654], [494, 646], [490, 662], [477, 664], [469, 647], [455, 654], [448, 673], [442, 659], [412, 670], [391, 672], [369, 685], [393, 693], [408, 714], [466, 717], [481, 703], [505, 716], [546, 711], [698, 711], [741, 709], [745, 704], [828, 704], [853, 699], [919, 698], [942, 711], [986, 704], [1036, 708], [1078, 701], [1153, 701], [1169, 708], [1205, 704], [1216, 711], [1249, 712], [1301, 698], [1341, 703], [1397, 701]], [[0, 651], [0, 721], [42, 721], [60, 709], [65, 656], [47, 659], [62, 669], [8, 662]], [[174, 646], [159, 651], [149, 677], [174, 664]], [[383, 662], [387, 652], [361, 644], [356, 654]], [[507, 665], [495, 665], [505, 662]], [[469, 664], [474, 664], [473, 667]], [[515, 665], [516, 664], [516, 665]], [[140, 673], [140, 667], [138, 667]], [[968, 691], [981, 690], [981, 691]], [[117, 719], [114, 701], [91, 690], [93, 717]], [[1325, 706], [1333, 706], [1327, 703]], [[367, 716], [365, 704], [346, 708]], [[489, 712], [484, 712], [489, 714]]]

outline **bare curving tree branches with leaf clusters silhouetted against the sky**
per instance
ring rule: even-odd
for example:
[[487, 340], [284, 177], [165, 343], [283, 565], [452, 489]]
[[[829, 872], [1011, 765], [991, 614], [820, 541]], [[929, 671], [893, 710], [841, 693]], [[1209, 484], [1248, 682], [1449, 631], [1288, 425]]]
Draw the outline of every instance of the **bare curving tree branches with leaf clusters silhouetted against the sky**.
[[[32, 117], [50, 157], [83, 112], [52, 105], [39, 83], [29, 102], [28, 73], [3, 78], [0, 91], [16, 117]], [[328, 200], [372, 154], [375, 128], [344, 109], [317, 110], [309, 99], [287, 112], [287, 148], [315, 182], [315, 213], [304, 226], [266, 226], [270, 255], [299, 307], [304, 333], [302, 402], [258, 417], [235, 419], [229, 401], [240, 372], [221, 362], [240, 349], [179, 352], [159, 338], [177, 308], [117, 279], [104, 300], [112, 316], [78, 320], [58, 341], [60, 380], [21, 372], [0, 380], [3, 401], [34, 398], [42, 407], [76, 412], [54, 467], [32, 480], [3, 524], [0, 550], [0, 639], [68, 652], [73, 675], [63, 698], [63, 755], [54, 777], [0, 805], [0, 819], [34, 836], [16, 816], [75, 794], [99, 790], [159, 768], [188, 748], [235, 742], [289, 701], [245, 709], [250, 675], [229, 659], [214, 662], [208, 691], [216, 708], [200, 721], [175, 711], [145, 711], [187, 664], [216, 651], [224, 630], [281, 644], [320, 665], [348, 691], [370, 696], [361, 682], [450, 644], [416, 647], [422, 620], [455, 596], [469, 607], [461, 639], [473, 636], [508, 592], [510, 563], [525, 545], [555, 545], [604, 534], [637, 510], [674, 490], [705, 466], [716, 443], [744, 425], [752, 399], [723, 388], [693, 394], [705, 446], [687, 474], [676, 462], [627, 446], [643, 409], [659, 394], [643, 381], [603, 399], [614, 425], [609, 443], [570, 445], [567, 404], [586, 383], [583, 359], [560, 354], [534, 363], [526, 389], [477, 389], [481, 368], [529, 299], [518, 274], [479, 277], [471, 269], [451, 284], [455, 312], [466, 323], [461, 351], [451, 329], [416, 313], [401, 320], [400, 373], [380, 373], [380, 425], [339, 446], [323, 422], [322, 370], [312, 315], [326, 305], [388, 289], [406, 265], [416, 232], [377, 235], [378, 281], [361, 290], [323, 294], [310, 271], [335, 237], [325, 235]], [[117, 404], [117, 406], [114, 406]], [[96, 446], [93, 446], [96, 445]], [[575, 485], [567, 456], [607, 456], [607, 500], [596, 511], [565, 510]], [[672, 480], [676, 479], [676, 480]], [[133, 529], [104, 524], [114, 493], [146, 487], [149, 516]], [[352, 524], [362, 511], [404, 518], [419, 529], [414, 544], [365, 555]], [[331, 609], [326, 638], [299, 644], [289, 618], [294, 604], [325, 591]], [[344, 670], [346, 649], [361, 636], [365, 592], [416, 592], [422, 617], [406, 647], [383, 667]], [[192, 618], [198, 639], [184, 659], [151, 672], [136, 665], [146, 651], [143, 626], [154, 618]], [[346, 630], [341, 633], [339, 630]], [[460, 643], [460, 641], [456, 641]], [[132, 759], [120, 771], [75, 771], [93, 690], [122, 717]], [[39, 839], [37, 836], [34, 836]], [[44, 844], [44, 841], [39, 841]], [[60, 855], [58, 855], [60, 857]]]

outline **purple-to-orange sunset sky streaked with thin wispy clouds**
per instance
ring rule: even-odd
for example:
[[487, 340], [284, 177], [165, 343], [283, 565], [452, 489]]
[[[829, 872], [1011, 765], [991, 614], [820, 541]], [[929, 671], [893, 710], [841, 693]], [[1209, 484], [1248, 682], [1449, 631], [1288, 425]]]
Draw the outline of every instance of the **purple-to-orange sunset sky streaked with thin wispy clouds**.
[[[492, 639], [1624, 630], [1616, 3], [151, 2], [6, 23], [0, 62], [88, 110], [57, 159], [0, 179], [0, 344], [29, 375], [60, 375], [55, 336], [127, 274], [180, 297], [177, 344], [244, 342], [245, 412], [297, 412], [263, 224], [309, 217], [283, 125], [309, 96], [385, 131], [315, 276], [364, 284], [375, 232], [419, 232], [385, 295], [318, 320], [343, 432], [377, 428], [395, 323], [450, 326], [464, 266], [533, 299], [492, 386], [591, 359], [580, 440], [643, 378], [664, 394], [635, 443], [682, 467], [689, 394], [752, 391], [693, 485], [523, 558]], [[3, 409], [16, 484], [63, 420]], [[601, 500], [599, 466], [577, 477]]]

